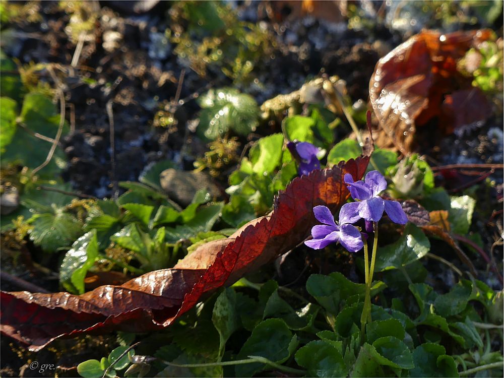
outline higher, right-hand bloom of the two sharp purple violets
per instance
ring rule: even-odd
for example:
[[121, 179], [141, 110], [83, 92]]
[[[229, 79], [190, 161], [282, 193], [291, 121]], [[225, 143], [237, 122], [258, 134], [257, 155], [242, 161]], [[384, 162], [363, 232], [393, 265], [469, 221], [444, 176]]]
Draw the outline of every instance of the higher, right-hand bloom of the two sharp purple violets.
[[387, 213], [394, 223], [406, 224], [408, 218], [401, 204], [397, 201], [384, 200], [379, 194], [387, 188], [387, 181], [379, 171], [370, 171], [364, 181], [354, 182], [351, 174], [345, 174], [350, 195], [357, 202], [350, 202], [341, 207], [341, 217], [345, 223], [354, 223], [360, 218], [367, 222], [377, 222], [382, 218], [383, 212]]

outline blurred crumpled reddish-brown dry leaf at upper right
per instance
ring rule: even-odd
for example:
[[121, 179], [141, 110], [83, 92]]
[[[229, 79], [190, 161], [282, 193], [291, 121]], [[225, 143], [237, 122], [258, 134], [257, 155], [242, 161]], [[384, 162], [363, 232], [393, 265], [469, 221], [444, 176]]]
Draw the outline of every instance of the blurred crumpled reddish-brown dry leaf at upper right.
[[[407, 154], [414, 149], [416, 127], [433, 117], [440, 117], [438, 128], [445, 135], [485, 120], [489, 104], [472, 87], [472, 78], [457, 70], [457, 61], [490, 37], [488, 30], [425, 30], [381, 58], [369, 82], [369, 99], [381, 125], [377, 145]], [[453, 114], [473, 100], [477, 111]]]

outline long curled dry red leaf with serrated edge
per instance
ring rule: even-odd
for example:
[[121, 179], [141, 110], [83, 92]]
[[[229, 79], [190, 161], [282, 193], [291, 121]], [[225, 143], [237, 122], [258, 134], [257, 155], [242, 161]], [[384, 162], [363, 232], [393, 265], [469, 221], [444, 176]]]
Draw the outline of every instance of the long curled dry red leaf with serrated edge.
[[202, 296], [294, 248], [316, 223], [313, 207], [332, 211], [349, 197], [343, 176], [363, 176], [366, 155], [295, 178], [275, 198], [273, 211], [227, 239], [200, 246], [174, 268], [147, 273], [120, 286], [82, 295], [2, 292], [0, 330], [36, 351], [59, 337], [110, 330], [143, 332], [169, 326]]

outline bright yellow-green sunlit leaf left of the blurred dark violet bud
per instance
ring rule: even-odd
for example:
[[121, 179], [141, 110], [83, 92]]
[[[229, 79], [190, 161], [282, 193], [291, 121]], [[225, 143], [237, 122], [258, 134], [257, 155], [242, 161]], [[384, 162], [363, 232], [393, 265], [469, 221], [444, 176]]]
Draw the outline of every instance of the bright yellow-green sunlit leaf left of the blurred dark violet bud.
[[272, 134], [261, 138], [250, 149], [249, 159], [253, 172], [259, 175], [271, 173], [280, 165], [284, 137], [282, 134]]

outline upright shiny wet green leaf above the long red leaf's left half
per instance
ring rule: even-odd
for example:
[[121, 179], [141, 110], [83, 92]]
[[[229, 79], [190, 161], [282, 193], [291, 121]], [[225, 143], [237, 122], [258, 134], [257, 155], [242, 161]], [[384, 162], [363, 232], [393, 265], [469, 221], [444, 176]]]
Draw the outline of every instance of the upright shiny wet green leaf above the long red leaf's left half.
[[70, 292], [84, 293], [84, 278], [98, 258], [96, 231], [90, 231], [75, 241], [61, 262], [59, 281]]

